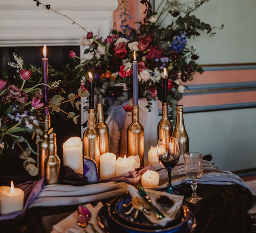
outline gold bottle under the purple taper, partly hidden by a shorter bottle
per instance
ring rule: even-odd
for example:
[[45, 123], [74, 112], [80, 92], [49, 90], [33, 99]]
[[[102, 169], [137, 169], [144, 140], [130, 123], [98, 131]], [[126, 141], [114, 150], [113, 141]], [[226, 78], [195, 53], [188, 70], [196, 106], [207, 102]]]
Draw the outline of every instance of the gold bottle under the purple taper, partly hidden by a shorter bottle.
[[48, 131], [50, 127], [51, 127], [51, 117], [50, 115], [46, 115], [44, 116], [44, 138], [40, 144], [41, 153], [40, 155], [37, 155], [37, 169], [38, 169], [37, 178], [38, 179], [41, 179], [44, 176], [44, 161], [48, 156], [48, 149], [49, 149]]

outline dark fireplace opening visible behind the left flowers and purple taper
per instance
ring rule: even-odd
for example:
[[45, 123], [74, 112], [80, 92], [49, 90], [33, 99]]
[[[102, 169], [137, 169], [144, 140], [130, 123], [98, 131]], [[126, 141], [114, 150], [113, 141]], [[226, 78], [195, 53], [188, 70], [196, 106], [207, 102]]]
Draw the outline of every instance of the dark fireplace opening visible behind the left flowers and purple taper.
[[[79, 46], [47, 46], [47, 57], [49, 59], [49, 64], [57, 70], [62, 70], [64, 65], [70, 61], [68, 56], [69, 51], [72, 50], [76, 54], [80, 53]], [[0, 78], [4, 77], [4, 67], [8, 66], [8, 62], [15, 62], [13, 58], [13, 52], [18, 56], [22, 56], [24, 64], [29, 67], [29, 64], [41, 67], [42, 66], [42, 57], [43, 57], [43, 46], [38, 47], [0, 47]], [[49, 77], [50, 79], [50, 77]], [[72, 109], [74, 111], [74, 109]], [[77, 113], [80, 115], [80, 111], [77, 110]], [[75, 125], [71, 119], [66, 120], [63, 116], [59, 114], [51, 115], [51, 126], [53, 131], [57, 136], [57, 154], [61, 159], [62, 163], [62, 144], [72, 136], [81, 135], [81, 121], [80, 117], [78, 118], [78, 124]], [[31, 135], [25, 135], [26, 138], [31, 138]], [[36, 150], [37, 146], [31, 141], [31, 146]], [[24, 149], [27, 147], [24, 143]], [[27, 173], [23, 168], [24, 160], [18, 159], [21, 154], [21, 149], [16, 148], [13, 151], [9, 151], [8, 154], [3, 154], [0, 156], [0, 175], [14, 174], [14, 173]], [[31, 155], [34, 157], [34, 155]], [[15, 172], [14, 172], [15, 171]], [[27, 173], [28, 174], [28, 173]], [[32, 177], [31, 177], [32, 178]]]

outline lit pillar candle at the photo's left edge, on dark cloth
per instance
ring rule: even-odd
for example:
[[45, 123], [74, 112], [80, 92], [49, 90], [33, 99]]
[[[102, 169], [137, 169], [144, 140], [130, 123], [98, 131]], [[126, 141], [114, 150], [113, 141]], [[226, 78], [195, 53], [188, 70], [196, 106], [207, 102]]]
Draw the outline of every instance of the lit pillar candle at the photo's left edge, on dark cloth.
[[14, 188], [13, 182], [11, 187], [0, 187], [0, 209], [2, 214], [9, 214], [23, 209], [24, 191], [20, 188]]

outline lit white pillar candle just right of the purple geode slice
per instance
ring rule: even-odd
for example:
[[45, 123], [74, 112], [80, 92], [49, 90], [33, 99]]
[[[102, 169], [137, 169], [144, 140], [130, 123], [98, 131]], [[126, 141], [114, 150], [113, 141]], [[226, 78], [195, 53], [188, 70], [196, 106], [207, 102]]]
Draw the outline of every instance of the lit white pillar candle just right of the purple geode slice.
[[105, 153], [100, 156], [100, 178], [109, 179], [116, 175], [116, 155]]

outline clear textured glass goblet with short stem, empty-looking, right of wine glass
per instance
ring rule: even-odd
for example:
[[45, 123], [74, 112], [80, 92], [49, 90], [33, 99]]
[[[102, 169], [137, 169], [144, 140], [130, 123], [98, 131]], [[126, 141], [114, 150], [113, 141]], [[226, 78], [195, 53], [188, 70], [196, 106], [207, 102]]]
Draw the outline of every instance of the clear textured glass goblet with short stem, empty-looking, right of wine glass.
[[203, 174], [203, 155], [198, 152], [188, 152], [184, 154], [185, 173], [191, 181], [191, 187], [193, 190], [192, 196], [186, 199], [189, 203], [197, 203], [202, 199], [196, 195], [197, 183], [196, 179], [200, 178]]

